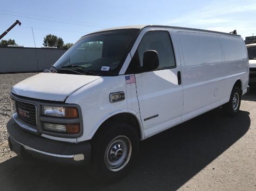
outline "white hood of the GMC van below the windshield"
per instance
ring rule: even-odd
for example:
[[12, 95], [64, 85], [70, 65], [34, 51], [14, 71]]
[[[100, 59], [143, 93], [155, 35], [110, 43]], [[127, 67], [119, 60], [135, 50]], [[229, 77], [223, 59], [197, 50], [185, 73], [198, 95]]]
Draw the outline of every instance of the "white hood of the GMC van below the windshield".
[[17, 83], [11, 92], [18, 96], [64, 102], [75, 91], [99, 78], [101, 76], [40, 73]]

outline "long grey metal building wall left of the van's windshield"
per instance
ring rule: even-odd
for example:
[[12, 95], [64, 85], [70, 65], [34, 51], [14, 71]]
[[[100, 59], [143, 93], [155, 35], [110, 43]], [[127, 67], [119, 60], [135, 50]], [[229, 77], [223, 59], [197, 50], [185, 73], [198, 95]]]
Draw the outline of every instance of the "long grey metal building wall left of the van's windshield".
[[66, 51], [54, 48], [0, 47], [0, 73], [43, 71], [49, 69]]

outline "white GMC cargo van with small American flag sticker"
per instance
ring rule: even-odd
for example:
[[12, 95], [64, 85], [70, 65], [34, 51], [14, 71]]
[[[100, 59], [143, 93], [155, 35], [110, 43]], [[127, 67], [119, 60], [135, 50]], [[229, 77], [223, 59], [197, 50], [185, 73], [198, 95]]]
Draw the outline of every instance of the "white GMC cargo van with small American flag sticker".
[[49, 70], [13, 86], [11, 150], [122, 177], [139, 140], [223, 106], [235, 115], [248, 90], [239, 35], [140, 25], [94, 32]]

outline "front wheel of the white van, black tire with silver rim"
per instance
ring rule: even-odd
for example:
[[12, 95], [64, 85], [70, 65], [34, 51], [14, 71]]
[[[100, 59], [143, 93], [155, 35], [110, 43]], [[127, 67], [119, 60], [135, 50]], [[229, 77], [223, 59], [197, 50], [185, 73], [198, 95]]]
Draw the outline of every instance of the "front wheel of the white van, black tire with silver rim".
[[[114, 181], [121, 179], [131, 169], [139, 153], [139, 139], [135, 129], [128, 124], [115, 123], [114, 125], [109, 124], [107, 126], [108, 127], [105, 125], [104, 128], [108, 130], [98, 134], [91, 143], [92, 152], [90, 164], [88, 165], [88, 172], [93, 178], [102, 183], [113, 183]], [[109, 126], [111, 127], [109, 128]], [[123, 147], [126, 147], [127, 152], [123, 149], [123, 153], [120, 152], [122, 154], [114, 154], [113, 150], [120, 150], [111, 149], [113, 147], [116, 148], [116, 145], [118, 147], [121, 146], [122, 149]], [[115, 161], [115, 158], [111, 157], [110, 153], [113, 156], [119, 154], [121, 157]], [[130, 158], [126, 158], [128, 156], [130, 156]], [[115, 163], [118, 164], [119, 161], [123, 162], [118, 166]], [[109, 164], [113, 165], [113, 167]]]

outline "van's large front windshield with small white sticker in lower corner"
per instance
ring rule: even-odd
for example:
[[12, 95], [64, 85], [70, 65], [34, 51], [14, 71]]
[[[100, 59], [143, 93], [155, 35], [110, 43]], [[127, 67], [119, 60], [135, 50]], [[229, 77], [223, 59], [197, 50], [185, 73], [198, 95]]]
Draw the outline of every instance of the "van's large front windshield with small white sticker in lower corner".
[[62, 55], [50, 71], [117, 76], [139, 32], [139, 29], [122, 29], [84, 36]]

